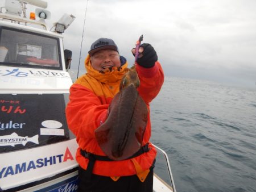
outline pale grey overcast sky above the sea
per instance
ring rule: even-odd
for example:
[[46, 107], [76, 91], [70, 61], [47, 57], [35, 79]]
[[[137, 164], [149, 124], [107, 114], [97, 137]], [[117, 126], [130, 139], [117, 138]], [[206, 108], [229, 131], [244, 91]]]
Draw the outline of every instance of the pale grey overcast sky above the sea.
[[[86, 0], [51, 0], [51, 22], [63, 13], [76, 20], [64, 33], [64, 48], [79, 63]], [[89, 0], [80, 69], [90, 44], [112, 38], [133, 64], [131, 48], [140, 35], [158, 53], [166, 76], [201, 78], [255, 87], [255, 0]]]

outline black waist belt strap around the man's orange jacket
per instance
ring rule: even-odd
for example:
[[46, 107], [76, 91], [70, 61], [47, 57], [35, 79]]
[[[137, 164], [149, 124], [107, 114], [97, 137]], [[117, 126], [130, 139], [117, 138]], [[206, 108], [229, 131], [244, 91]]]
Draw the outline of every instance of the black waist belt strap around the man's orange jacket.
[[[130, 159], [130, 158], [134, 158], [137, 156], [142, 155], [143, 153], [146, 153], [150, 151], [150, 148], [148, 148], [148, 143], [146, 145], [144, 145], [141, 149], [139, 149], [139, 151], [137, 151], [136, 153], [134, 153], [134, 155], [132, 155], [131, 157], [127, 158], [126, 160]], [[92, 175], [92, 170], [93, 170], [93, 166], [95, 161], [115, 161], [112, 160], [111, 158], [109, 158], [108, 156], [101, 156], [101, 155], [94, 155], [93, 153], [89, 153], [86, 152], [84, 150], [80, 150], [80, 154], [89, 159], [89, 163], [87, 165], [87, 169], [86, 169], [86, 173], [87, 173], [87, 177], [90, 178]]]

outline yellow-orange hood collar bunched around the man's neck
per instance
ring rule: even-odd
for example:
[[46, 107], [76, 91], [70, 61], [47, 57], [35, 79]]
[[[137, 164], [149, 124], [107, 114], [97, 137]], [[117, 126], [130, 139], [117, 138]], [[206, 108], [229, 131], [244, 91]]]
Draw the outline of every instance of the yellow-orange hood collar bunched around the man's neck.
[[108, 69], [105, 72], [101, 73], [92, 67], [92, 64], [90, 64], [90, 55], [88, 55], [85, 59], [85, 69], [88, 76], [96, 78], [98, 81], [104, 84], [111, 84], [111, 83], [120, 81], [123, 75], [126, 73], [125, 68], [127, 68], [128, 66], [125, 57], [122, 57], [122, 56], [120, 57], [121, 57], [120, 68], [113, 67], [111, 71], [110, 69]]

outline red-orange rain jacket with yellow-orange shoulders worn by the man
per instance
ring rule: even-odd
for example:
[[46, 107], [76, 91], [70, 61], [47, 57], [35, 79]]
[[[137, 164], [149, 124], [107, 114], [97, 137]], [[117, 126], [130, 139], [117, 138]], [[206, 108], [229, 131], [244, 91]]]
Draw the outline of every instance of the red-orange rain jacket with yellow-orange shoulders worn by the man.
[[[106, 156], [96, 141], [94, 130], [107, 118], [107, 111], [115, 94], [119, 91], [119, 84], [127, 62], [120, 71], [112, 70], [102, 74], [92, 68], [90, 56], [85, 59], [87, 73], [77, 79], [70, 88], [69, 103], [66, 108], [69, 129], [76, 135], [79, 148], [76, 160], [86, 169], [88, 158], [81, 156], [80, 149], [95, 155]], [[147, 104], [148, 122], [144, 132], [143, 145], [147, 144], [151, 136], [149, 103], [159, 93], [164, 74], [160, 63], [156, 61], [153, 68], [143, 68], [137, 65], [137, 73], [141, 81], [139, 94]], [[96, 161], [93, 174], [109, 177], [131, 176], [149, 169], [156, 156], [156, 149], [149, 144], [150, 151], [129, 160]], [[139, 167], [139, 169], [138, 169]]]

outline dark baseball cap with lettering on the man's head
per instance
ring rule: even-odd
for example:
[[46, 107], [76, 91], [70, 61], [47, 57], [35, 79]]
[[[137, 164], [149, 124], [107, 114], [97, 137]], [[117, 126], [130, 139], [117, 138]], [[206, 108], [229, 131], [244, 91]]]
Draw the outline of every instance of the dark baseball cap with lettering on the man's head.
[[102, 49], [113, 49], [114, 51], [118, 52], [117, 45], [112, 39], [100, 38], [90, 46], [90, 51], [88, 53], [90, 56], [92, 56], [95, 52], [100, 51]]

